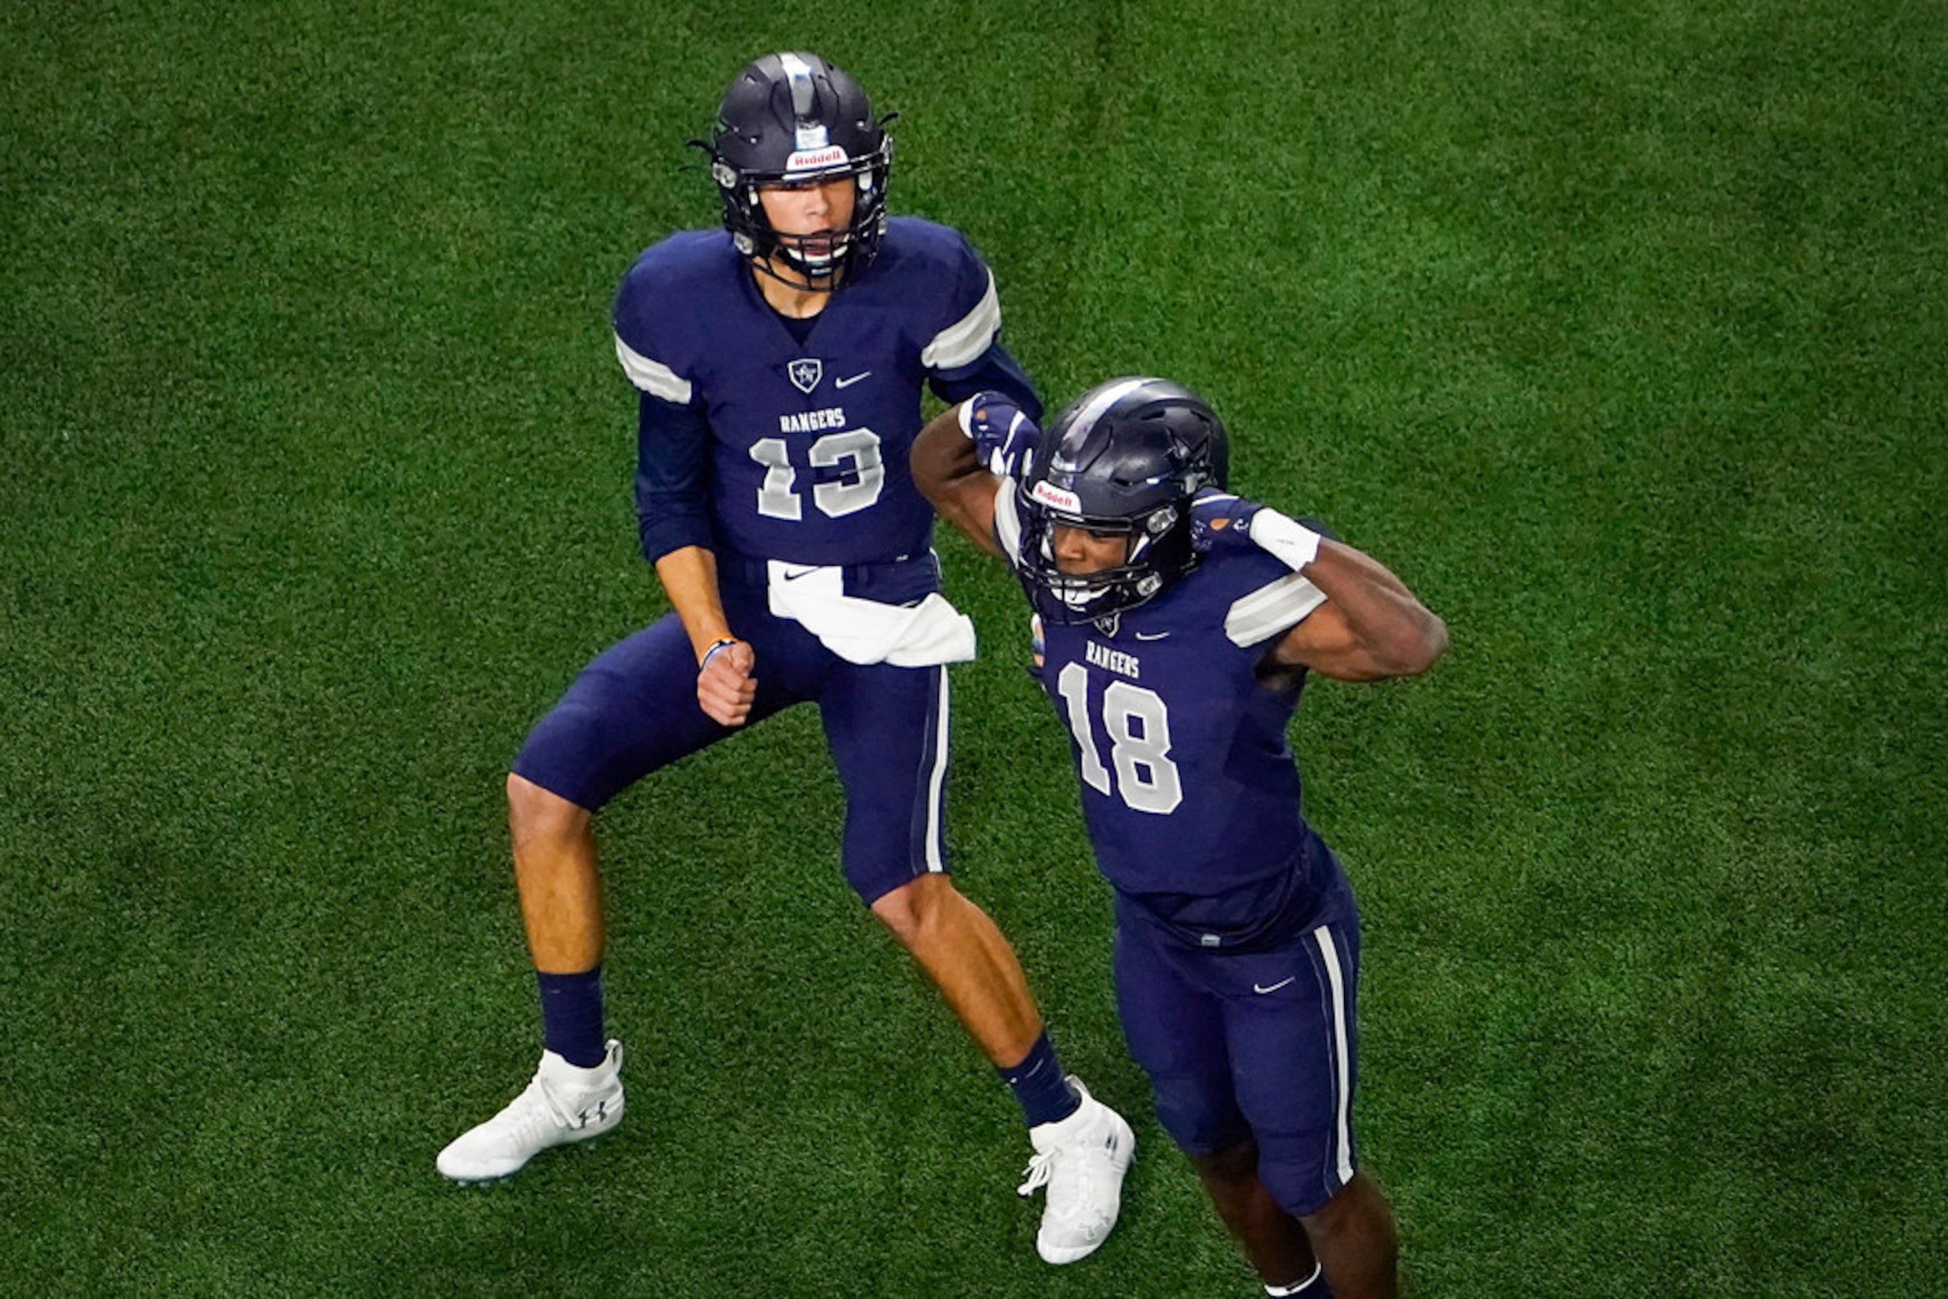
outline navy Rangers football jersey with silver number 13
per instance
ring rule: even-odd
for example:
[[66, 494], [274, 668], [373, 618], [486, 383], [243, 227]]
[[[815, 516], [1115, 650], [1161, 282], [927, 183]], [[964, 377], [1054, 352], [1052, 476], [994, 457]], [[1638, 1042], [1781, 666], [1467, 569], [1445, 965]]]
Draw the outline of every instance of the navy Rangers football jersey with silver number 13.
[[723, 230], [645, 251], [614, 319], [629, 380], [707, 423], [695, 479], [715, 545], [806, 565], [927, 549], [933, 510], [908, 467], [919, 391], [988, 354], [1001, 327], [993, 277], [958, 232], [892, 218], [805, 343]]

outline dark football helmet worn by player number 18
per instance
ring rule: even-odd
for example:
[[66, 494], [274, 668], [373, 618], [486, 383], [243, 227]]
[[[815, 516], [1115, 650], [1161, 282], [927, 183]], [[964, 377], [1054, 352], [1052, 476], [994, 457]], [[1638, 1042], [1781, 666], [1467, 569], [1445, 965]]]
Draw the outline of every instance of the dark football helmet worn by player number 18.
[[[1223, 487], [1231, 448], [1204, 397], [1157, 378], [1118, 378], [1075, 399], [1015, 489], [1021, 580], [1042, 617], [1085, 623], [1153, 600], [1198, 567], [1190, 499]], [[1056, 528], [1126, 538], [1124, 561], [1062, 573]]]

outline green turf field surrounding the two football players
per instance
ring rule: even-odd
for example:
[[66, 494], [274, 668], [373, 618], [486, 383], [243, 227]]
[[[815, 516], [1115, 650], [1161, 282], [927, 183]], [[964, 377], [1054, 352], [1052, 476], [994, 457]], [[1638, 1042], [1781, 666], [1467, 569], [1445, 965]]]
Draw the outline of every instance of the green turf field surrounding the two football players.
[[629, 1122], [434, 1174], [538, 1050], [505, 761], [662, 610], [610, 294], [799, 47], [902, 113], [894, 206], [1052, 399], [1200, 388], [1243, 491], [1449, 623], [1293, 728], [1412, 1293], [1948, 1289], [1940, 6], [21, 0], [0, 1293], [1256, 1293], [945, 536], [956, 867], [1138, 1126], [1110, 1243], [1036, 1260], [803, 711], [604, 814]]

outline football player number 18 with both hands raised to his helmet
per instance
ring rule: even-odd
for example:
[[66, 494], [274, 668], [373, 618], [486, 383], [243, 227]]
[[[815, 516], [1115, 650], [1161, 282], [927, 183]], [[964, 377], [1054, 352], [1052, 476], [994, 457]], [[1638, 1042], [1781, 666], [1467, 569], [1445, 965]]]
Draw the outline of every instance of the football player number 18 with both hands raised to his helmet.
[[1157, 1118], [1272, 1295], [1393, 1295], [1395, 1229], [1358, 1170], [1360, 915], [1299, 810], [1307, 674], [1426, 670], [1445, 629], [1367, 555], [1223, 489], [1192, 391], [1124, 378], [1040, 434], [982, 393], [914, 479], [1021, 576], [1116, 896], [1116, 1001]]

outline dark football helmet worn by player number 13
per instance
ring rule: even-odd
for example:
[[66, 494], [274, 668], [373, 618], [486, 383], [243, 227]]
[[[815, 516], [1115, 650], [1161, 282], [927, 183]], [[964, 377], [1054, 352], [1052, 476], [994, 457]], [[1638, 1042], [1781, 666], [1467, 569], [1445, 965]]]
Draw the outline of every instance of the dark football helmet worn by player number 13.
[[[758, 271], [793, 288], [830, 292], [865, 271], [886, 232], [886, 179], [892, 171], [890, 117], [843, 70], [818, 55], [766, 55], [730, 82], [709, 140], [711, 179], [723, 201], [725, 230]], [[853, 216], [838, 238], [781, 236], [764, 216], [764, 185], [855, 177]], [[803, 282], [777, 273], [777, 263]]]

